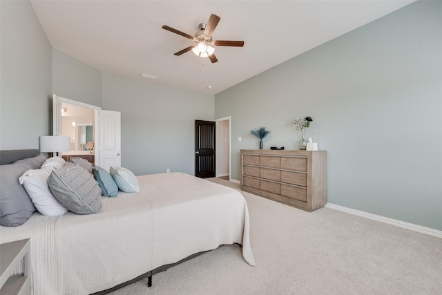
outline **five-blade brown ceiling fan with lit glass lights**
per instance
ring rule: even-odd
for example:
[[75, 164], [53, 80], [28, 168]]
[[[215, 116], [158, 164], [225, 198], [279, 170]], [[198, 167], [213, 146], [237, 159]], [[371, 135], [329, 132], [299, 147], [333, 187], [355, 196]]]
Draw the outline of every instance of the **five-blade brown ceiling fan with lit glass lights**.
[[182, 55], [183, 53], [192, 50], [195, 55], [198, 55], [199, 57], [209, 57], [210, 61], [214, 63], [217, 62], [218, 59], [213, 54], [213, 52], [215, 51], [215, 48], [213, 48], [213, 46], [244, 46], [244, 41], [212, 40], [213, 30], [215, 30], [219, 21], [220, 17], [218, 17], [218, 15], [210, 15], [209, 21], [207, 21], [207, 23], [200, 23], [200, 25], [198, 26], [200, 30], [196, 32], [194, 36], [191, 36], [189, 34], [186, 34], [185, 32], [181, 32], [180, 30], [176, 30], [169, 26], [162, 26], [162, 28], [164, 28], [164, 30], [169, 30], [170, 32], [174, 32], [175, 34], [195, 41], [195, 44], [184, 48], [177, 53], [174, 53], [174, 55]]

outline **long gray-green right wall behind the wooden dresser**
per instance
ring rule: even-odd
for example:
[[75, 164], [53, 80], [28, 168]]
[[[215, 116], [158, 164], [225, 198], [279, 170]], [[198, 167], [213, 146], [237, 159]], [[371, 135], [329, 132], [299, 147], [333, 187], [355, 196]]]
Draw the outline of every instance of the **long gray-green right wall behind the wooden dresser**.
[[[232, 178], [251, 129], [328, 155], [328, 202], [442, 230], [442, 1], [419, 1], [215, 95], [231, 115]], [[238, 136], [242, 142], [238, 142]]]

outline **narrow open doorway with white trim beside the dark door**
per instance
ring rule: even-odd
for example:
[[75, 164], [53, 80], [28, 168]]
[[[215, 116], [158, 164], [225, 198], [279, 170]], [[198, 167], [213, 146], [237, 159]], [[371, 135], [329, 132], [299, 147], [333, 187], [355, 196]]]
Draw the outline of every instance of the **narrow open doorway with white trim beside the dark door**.
[[215, 120], [216, 177], [230, 180], [231, 175], [231, 117]]

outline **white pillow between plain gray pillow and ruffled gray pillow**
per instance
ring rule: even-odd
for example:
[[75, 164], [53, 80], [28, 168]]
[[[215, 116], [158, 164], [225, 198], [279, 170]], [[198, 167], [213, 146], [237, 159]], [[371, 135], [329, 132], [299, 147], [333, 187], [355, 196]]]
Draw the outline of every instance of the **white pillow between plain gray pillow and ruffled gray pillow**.
[[68, 211], [65, 207], [61, 206], [49, 190], [48, 178], [53, 169], [52, 166], [31, 169], [23, 173], [19, 178], [20, 184], [23, 184], [23, 187], [25, 187], [35, 208], [46, 216], [59, 216]]

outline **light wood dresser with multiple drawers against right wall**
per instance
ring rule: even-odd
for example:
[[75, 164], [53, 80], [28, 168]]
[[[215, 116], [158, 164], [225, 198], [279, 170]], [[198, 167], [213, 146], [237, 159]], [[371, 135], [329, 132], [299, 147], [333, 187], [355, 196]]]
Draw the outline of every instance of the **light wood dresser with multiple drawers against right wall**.
[[241, 150], [241, 189], [314, 211], [327, 203], [327, 151]]

